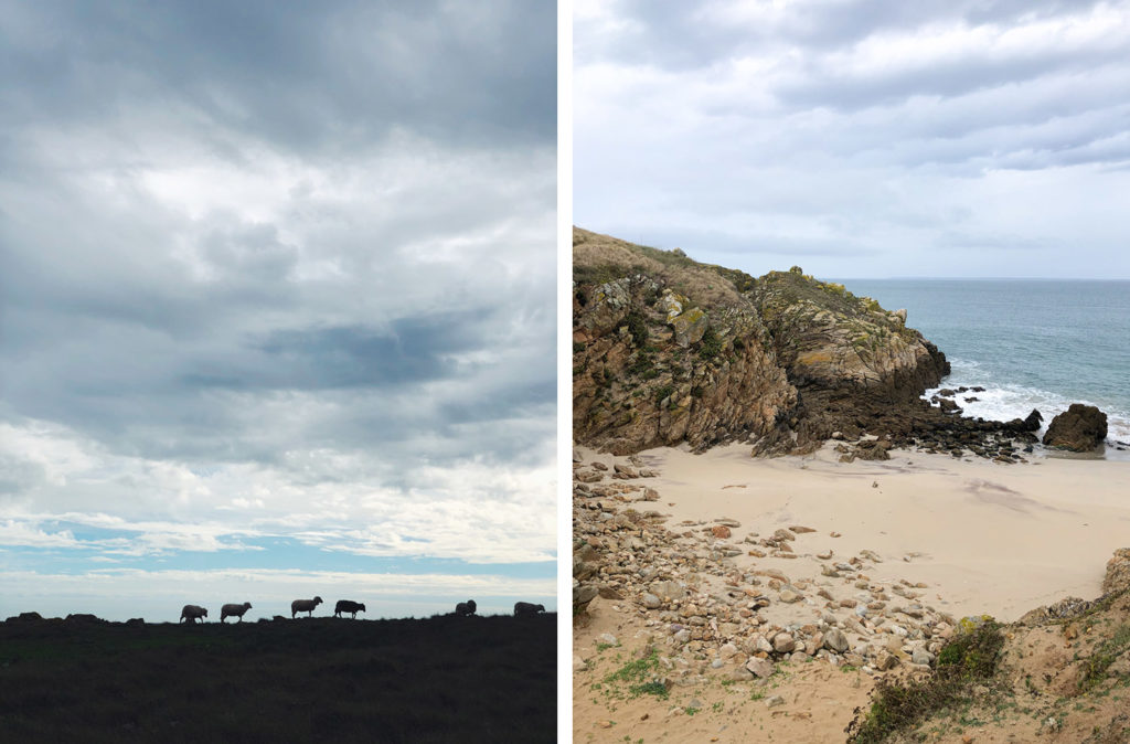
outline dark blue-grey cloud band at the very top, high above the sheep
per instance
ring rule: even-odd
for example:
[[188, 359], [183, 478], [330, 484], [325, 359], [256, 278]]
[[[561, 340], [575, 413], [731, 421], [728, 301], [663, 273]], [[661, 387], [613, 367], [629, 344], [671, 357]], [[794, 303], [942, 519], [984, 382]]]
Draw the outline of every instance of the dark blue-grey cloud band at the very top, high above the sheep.
[[167, 107], [336, 153], [393, 128], [548, 142], [555, 14], [518, 0], [6, 2], [2, 116], [130, 127]]

